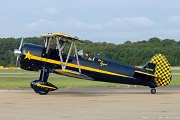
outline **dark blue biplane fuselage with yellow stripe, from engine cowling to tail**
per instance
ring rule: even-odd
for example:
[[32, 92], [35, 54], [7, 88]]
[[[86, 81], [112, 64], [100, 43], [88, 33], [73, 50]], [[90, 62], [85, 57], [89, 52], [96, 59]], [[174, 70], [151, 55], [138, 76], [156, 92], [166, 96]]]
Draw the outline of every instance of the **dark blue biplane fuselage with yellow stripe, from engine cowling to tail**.
[[[64, 62], [66, 57], [67, 55], [63, 54]], [[86, 60], [81, 56], [78, 57], [78, 62], [80, 63], [79, 67], [77, 65], [76, 57], [70, 56], [66, 64], [66, 71], [63, 71], [62, 62], [60, 61], [56, 49], [52, 49], [46, 53], [46, 49], [43, 46], [24, 44], [19, 61], [21, 68], [25, 70], [38, 71], [41, 70], [43, 66], [47, 66], [53, 73], [71, 77], [87, 78], [90, 80], [111, 83], [157, 87], [157, 84], [151, 76], [143, 76], [135, 72], [146, 72], [146, 70], [142, 68], [117, 62], [101, 55], [96, 55], [93, 61]], [[81, 70], [81, 73], [79, 73], [79, 69]]]

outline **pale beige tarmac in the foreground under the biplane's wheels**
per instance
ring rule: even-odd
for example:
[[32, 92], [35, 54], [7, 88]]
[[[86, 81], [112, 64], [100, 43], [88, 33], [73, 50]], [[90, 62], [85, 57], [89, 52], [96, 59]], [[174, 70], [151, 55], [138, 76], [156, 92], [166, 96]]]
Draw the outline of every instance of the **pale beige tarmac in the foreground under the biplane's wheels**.
[[0, 120], [180, 120], [180, 87], [0, 89]]

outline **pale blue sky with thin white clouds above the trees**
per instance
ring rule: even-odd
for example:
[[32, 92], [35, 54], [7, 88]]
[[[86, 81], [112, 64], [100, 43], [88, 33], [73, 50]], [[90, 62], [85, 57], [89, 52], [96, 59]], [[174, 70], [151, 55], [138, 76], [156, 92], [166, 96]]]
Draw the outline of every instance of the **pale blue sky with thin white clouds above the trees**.
[[82, 40], [180, 40], [180, 0], [1, 0], [0, 38], [61, 32]]

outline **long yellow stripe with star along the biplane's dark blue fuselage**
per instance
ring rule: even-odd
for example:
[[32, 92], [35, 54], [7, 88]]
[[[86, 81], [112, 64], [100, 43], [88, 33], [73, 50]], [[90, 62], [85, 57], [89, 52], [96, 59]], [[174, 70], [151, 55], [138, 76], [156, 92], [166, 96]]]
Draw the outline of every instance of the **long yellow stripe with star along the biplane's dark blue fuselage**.
[[[27, 58], [29, 60], [33, 59], [33, 60], [38, 60], [38, 61], [47, 62], [47, 63], [51, 63], [51, 64], [61, 65], [61, 61], [35, 56], [35, 55], [30, 54], [30, 52], [25, 53], [25, 55], [26, 56], [24, 59]], [[72, 63], [67, 63], [66, 66], [72, 67], [72, 68], [78, 68], [78, 65], [72, 64]], [[126, 76], [126, 75], [122, 75], [122, 74], [118, 74], [118, 73], [114, 73], [114, 72], [109, 72], [109, 71], [105, 71], [105, 70], [100, 70], [97, 68], [91, 68], [91, 67], [87, 67], [87, 66], [80, 66], [80, 69], [88, 70], [88, 71], [92, 71], [92, 72], [103, 73], [103, 74], [108, 74], [108, 75], [120, 76], [120, 77], [125, 77], [125, 78], [133, 78], [131, 76]]]

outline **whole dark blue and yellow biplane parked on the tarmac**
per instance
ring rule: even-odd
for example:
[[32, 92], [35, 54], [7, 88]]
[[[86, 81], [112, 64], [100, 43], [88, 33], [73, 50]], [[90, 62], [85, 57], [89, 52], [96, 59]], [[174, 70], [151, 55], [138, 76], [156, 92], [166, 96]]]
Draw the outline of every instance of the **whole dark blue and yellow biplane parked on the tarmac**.
[[32, 81], [30, 85], [41, 95], [58, 89], [48, 82], [50, 73], [93, 81], [149, 86], [152, 94], [156, 93], [156, 87], [166, 86], [171, 81], [170, 64], [162, 54], [154, 55], [141, 68], [99, 54], [89, 61], [78, 55], [76, 44], [83, 44], [83, 41], [77, 37], [62, 33], [40, 36], [44, 39], [44, 46], [23, 44], [22, 39], [14, 54], [21, 69], [40, 71], [39, 79]]

